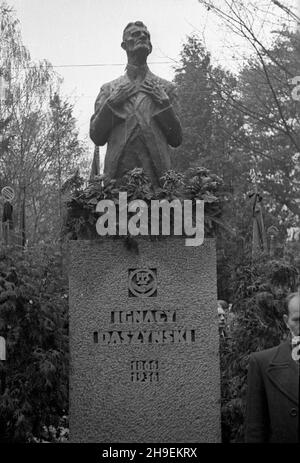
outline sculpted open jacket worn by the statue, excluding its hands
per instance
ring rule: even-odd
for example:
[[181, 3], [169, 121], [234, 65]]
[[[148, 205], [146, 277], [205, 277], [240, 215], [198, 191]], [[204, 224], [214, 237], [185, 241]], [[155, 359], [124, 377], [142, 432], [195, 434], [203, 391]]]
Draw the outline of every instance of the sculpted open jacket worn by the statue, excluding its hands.
[[115, 178], [120, 156], [137, 128], [159, 176], [170, 169], [168, 145], [179, 146], [182, 140], [180, 122], [174, 110], [175, 85], [154, 75], [148, 67], [146, 69], [145, 78], [162, 86], [167, 93], [171, 103], [168, 108], [161, 110], [150, 95], [142, 91], [117, 109], [112, 108], [107, 99], [116, 87], [130, 81], [127, 73], [104, 84], [96, 99], [90, 137], [97, 146], [108, 143], [104, 172], [111, 178]]

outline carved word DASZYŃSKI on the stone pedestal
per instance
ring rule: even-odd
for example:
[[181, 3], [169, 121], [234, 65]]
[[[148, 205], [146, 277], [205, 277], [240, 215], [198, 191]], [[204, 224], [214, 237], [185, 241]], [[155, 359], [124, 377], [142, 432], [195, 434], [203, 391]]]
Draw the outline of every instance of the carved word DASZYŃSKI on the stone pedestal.
[[101, 345], [192, 344], [195, 342], [195, 330], [95, 331], [94, 342]]

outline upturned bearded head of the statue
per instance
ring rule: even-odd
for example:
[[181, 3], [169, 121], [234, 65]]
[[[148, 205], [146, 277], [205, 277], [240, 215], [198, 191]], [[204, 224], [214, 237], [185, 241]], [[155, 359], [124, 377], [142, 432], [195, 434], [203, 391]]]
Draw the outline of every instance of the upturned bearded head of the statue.
[[121, 47], [126, 51], [127, 56], [138, 56], [146, 60], [152, 51], [150, 34], [142, 21], [135, 21], [127, 24], [123, 31]]

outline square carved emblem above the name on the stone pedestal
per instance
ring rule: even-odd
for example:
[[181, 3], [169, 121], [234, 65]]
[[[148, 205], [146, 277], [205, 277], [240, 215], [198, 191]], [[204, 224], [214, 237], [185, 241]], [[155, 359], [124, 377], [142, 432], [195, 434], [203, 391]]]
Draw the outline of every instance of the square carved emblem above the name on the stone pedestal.
[[157, 291], [156, 269], [139, 268], [129, 270], [129, 296], [150, 297]]

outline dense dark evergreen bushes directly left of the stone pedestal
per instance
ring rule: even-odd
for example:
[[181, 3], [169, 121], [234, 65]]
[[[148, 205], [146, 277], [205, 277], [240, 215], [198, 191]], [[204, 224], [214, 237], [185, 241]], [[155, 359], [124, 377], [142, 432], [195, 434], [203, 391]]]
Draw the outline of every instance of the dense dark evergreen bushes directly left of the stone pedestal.
[[68, 289], [54, 248], [0, 253], [0, 440], [24, 442], [68, 412]]

